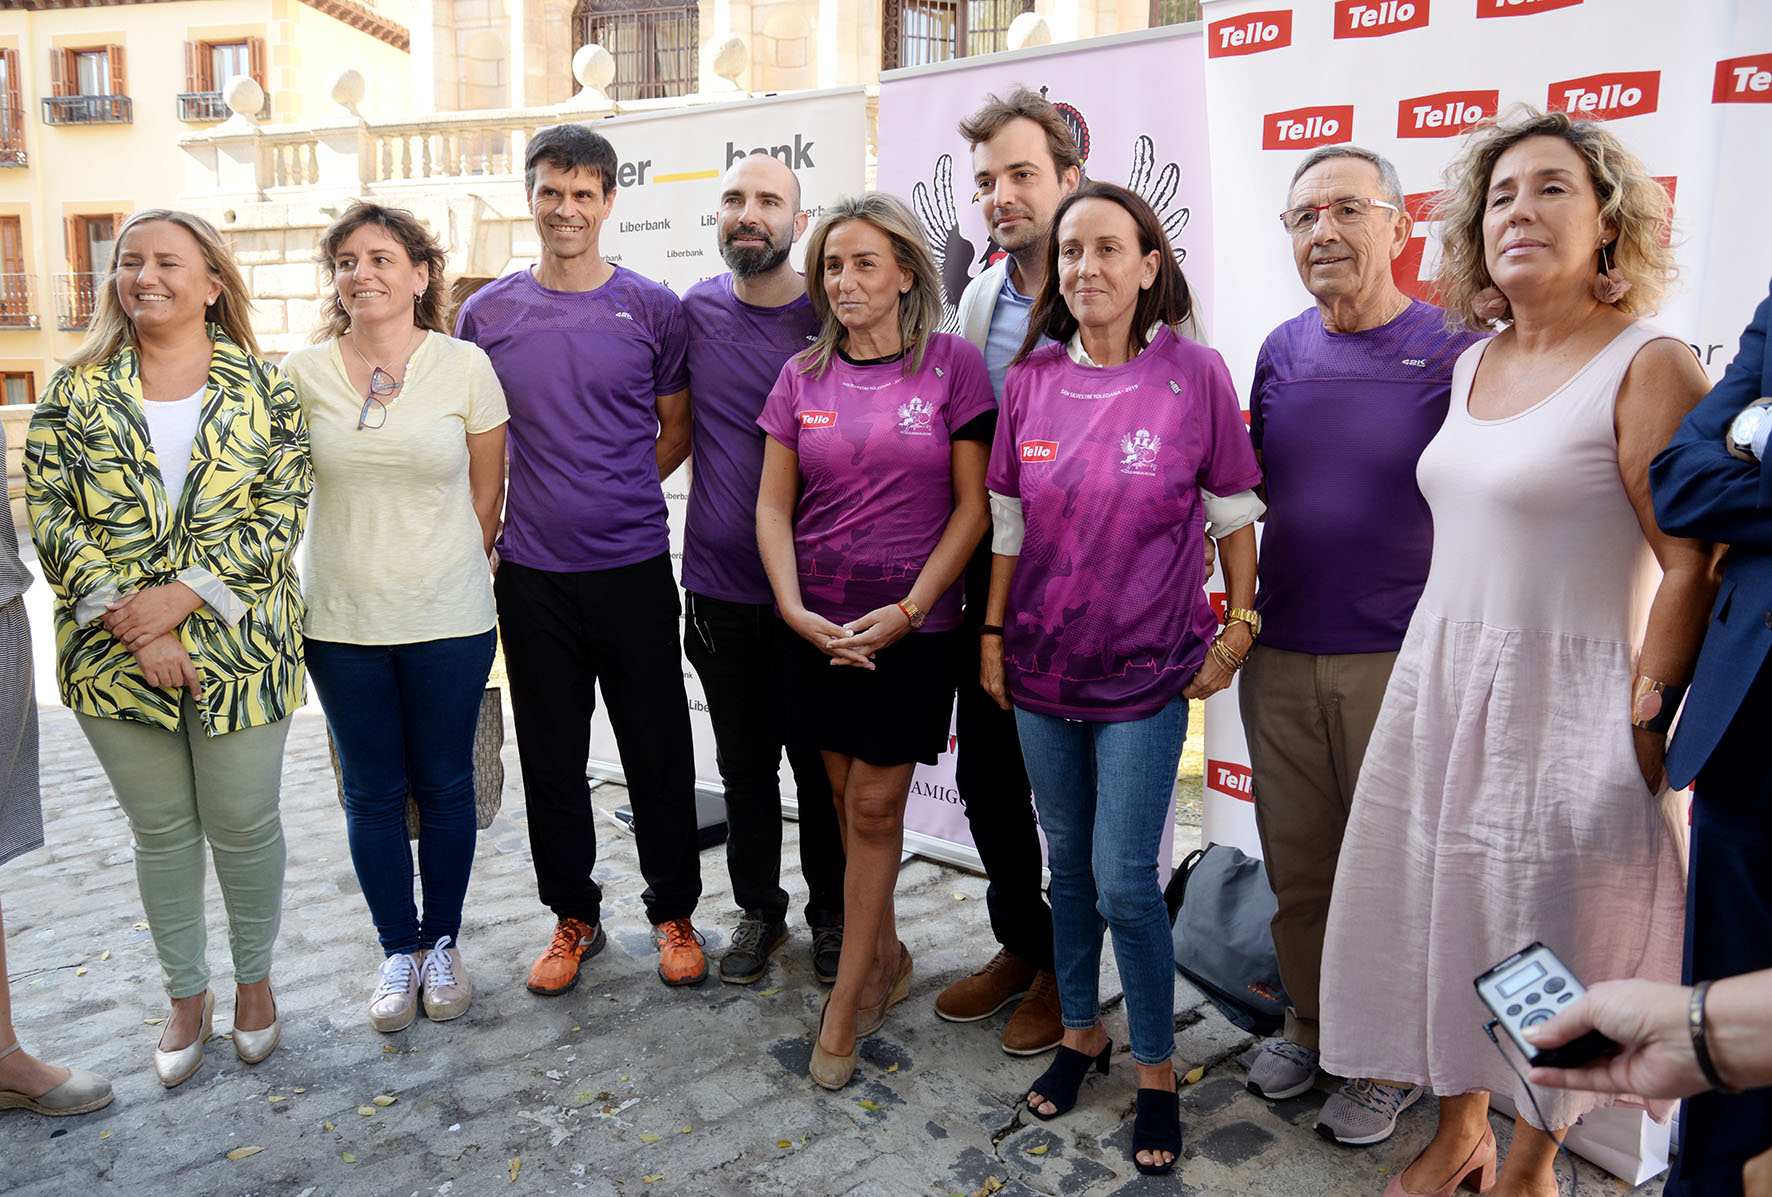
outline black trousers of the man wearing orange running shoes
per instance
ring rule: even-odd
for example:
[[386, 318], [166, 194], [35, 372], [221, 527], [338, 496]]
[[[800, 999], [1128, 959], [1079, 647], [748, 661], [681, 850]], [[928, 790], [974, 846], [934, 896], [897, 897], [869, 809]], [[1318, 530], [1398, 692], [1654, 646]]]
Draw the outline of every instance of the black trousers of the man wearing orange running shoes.
[[686, 919], [702, 896], [695, 745], [677, 655], [670, 558], [583, 574], [505, 561], [493, 583], [542, 905], [599, 923], [597, 823], [585, 763], [597, 691], [634, 809], [647, 919]]

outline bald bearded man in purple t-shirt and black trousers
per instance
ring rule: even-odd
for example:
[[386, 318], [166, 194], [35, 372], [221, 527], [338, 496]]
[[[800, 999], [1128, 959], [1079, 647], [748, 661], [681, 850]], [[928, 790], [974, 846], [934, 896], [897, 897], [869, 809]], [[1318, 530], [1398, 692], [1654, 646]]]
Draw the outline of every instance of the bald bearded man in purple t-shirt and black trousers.
[[[769, 154], [732, 165], [719, 184], [716, 236], [730, 274], [682, 297], [689, 326], [695, 469], [682, 537], [688, 607], [682, 650], [702, 678], [727, 792], [727, 871], [744, 912], [719, 958], [719, 979], [750, 985], [787, 942], [781, 889], [781, 708], [776, 694], [774, 595], [757, 554], [757, 427], [781, 365], [819, 335], [806, 282], [789, 250], [806, 232], [799, 179]], [[799, 795], [799, 864], [806, 875], [812, 965], [836, 981], [843, 947], [843, 841], [819, 753], [790, 751]]]

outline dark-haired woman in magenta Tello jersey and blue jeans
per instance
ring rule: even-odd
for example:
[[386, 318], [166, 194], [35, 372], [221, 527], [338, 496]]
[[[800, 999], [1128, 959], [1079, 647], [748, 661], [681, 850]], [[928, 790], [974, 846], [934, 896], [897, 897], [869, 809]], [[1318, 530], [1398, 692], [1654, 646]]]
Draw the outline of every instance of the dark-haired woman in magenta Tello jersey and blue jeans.
[[[982, 641], [983, 685], [1015, 708], [1053, 871], [1065, 1039], [1028, 1108], [1058, 1117], [1092, 1066], [1108, 1071], [1106, 921], [1138, 1066], [1134, 1162], [1168, 1172], [1182, 1128], [1157, 852], [1187, 699], [1224, 689], [1255, 639], [1262, 473], [1223, 359], [1175, 331], [1193, 301], [1148, 204], [1084, 184], [1058, 207], [1047, 260], [991, 452]], [[1223, 630], [1200, 586], [1203, 489], [1226, 501], [1212, 526]], [[1219, 510], [1239, 514], [1219, 522]]]

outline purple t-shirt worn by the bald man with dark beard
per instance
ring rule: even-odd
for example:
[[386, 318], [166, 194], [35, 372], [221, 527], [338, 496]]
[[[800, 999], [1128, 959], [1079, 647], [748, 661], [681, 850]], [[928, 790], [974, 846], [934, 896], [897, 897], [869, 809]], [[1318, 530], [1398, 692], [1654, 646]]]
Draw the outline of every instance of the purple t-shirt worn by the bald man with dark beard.
[[819, 335], [819, 320], [804, 294], [780, 308], [744, 303], [732, 294], [732, 274], [684, 292], [682, 315], [695, 420], [682, 588], [727, 602], [774, 602], [757, 556], [757, 482], [767, 439], [757, 416], [783, 363]]

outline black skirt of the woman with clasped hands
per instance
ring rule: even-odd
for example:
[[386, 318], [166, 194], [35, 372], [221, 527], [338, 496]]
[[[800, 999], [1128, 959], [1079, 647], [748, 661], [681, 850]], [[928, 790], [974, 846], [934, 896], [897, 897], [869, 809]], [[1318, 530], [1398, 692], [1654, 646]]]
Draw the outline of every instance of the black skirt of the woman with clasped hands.
[[790, 749], [838, 753], [888, 768], [934, 765], [948, 747], [959, 629], [907, 632], [872, 669], [831, 659], [778, 623], [783, 731]]

